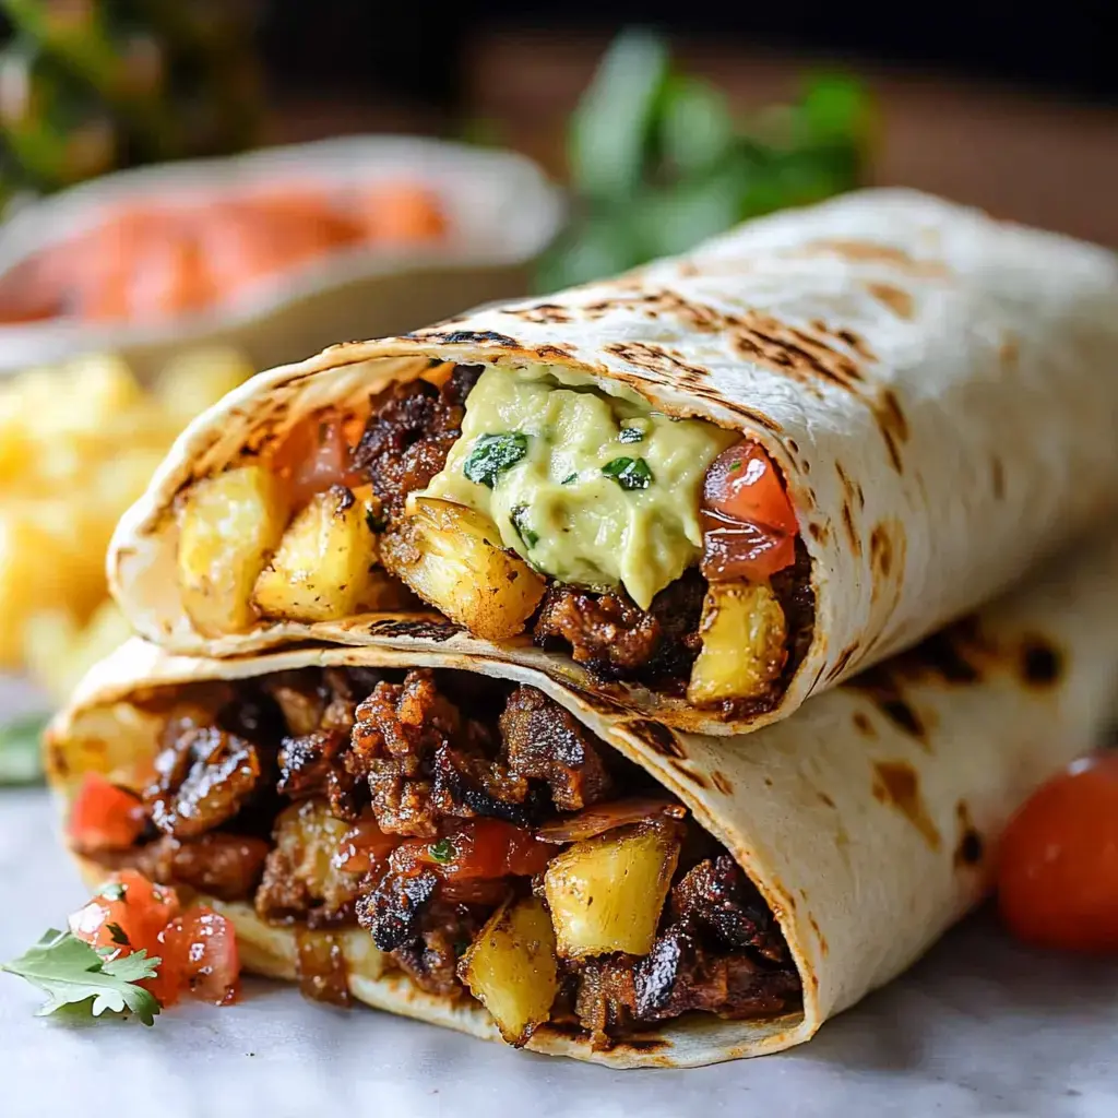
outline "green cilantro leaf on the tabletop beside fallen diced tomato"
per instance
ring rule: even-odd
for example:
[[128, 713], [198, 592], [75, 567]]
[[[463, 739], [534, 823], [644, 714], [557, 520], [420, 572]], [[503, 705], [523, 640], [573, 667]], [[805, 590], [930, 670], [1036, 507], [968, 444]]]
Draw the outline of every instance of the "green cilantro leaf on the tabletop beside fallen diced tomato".
[[154, 978], [161, 961], [158, 957], [148, 958], [146, 950], [106, 959], [68, 931], [51, 928], [18, 959], [0, 966], [0, 970], [26, 978], [48, 995], [39, 1016], [88, 1002], [95, 1017], [131, 1012], [151, 1025], [160, 1011], [159, 1002], [135, 983]]

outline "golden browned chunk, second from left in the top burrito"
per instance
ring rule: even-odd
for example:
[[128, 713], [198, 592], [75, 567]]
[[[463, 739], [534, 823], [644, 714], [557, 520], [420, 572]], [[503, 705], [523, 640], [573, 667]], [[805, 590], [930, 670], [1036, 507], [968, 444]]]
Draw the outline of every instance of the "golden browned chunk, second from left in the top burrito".
[[376, 571], [377, 537], [369, 508], [341, 485], [316, 493], [291, 522], [253, 601], [265, 617], [330, 622], [379, 605], [383, 572]]

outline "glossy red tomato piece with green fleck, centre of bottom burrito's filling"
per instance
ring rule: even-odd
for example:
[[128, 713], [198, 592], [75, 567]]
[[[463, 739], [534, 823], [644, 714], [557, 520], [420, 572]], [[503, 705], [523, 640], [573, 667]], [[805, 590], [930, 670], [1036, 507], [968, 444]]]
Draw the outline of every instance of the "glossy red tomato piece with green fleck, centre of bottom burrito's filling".
[[389, 863], [398, 873], [415, 875], [434, 870], [447, 881], [531, 877], [547, 868], [555, 852], [555, 846], [539, 842], [524, 827], [502, 819], [474, 819], [442, 839], [405, 841], [392, 852]]

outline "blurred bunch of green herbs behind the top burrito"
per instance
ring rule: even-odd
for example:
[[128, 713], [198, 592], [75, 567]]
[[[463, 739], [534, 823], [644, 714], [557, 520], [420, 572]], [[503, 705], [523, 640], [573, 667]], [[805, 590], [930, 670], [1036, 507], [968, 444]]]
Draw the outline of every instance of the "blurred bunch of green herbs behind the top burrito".
[[860, 186], [870, 116], [860, 83], [822, 75], [797, 103], [739, 122], [721, 91], [673, 70], [659, 36], [623, 32], [571, 117], [575, 216], [537, 290], [685, 252], [747, 218]]

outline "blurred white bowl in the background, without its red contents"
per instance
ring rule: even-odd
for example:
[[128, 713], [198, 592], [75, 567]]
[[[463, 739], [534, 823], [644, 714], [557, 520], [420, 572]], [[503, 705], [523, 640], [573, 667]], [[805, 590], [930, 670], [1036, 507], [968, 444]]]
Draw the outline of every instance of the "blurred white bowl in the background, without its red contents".
[[344, 136], [106, 176], [27, 203], [0, 226], [0, 275], [130, 199], [397, 178], [438, 195], [451, 230], [445, 239], [332, 253], [212, 309], [150, 323], [0, 325], [0, 373], [113, 351], [143, 376], [173, 350], [208, 343], [237, 345], [263, 369], [527, 293], [532, 263], [565, 218], [562, 193], [522, 155], [413, 136]]

